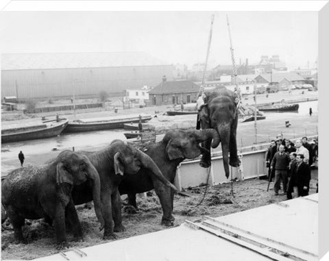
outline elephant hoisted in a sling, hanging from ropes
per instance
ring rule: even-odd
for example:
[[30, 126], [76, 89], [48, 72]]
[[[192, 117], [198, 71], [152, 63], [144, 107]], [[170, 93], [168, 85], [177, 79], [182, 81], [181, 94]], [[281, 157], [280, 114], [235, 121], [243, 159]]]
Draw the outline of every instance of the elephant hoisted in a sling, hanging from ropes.
[[[231, 90], [221, 88], [205, 92], [205, 104], [199, 110], [199, 119], [202, 129], [216, 129], [223, 153], [225, 175], [230, 175], [229, 164], [240, 166], [236, 148], [236, 128], [238, 127], [238, 110], [236, 108], [237, 95]], [[203, 147], [210, 149], [210, 142], [206, 140]], [[230, 161], [229, 161], [230, 153]], [[211, 164], [210, 153], [204, 153], [200, 165], [207, 168]]]

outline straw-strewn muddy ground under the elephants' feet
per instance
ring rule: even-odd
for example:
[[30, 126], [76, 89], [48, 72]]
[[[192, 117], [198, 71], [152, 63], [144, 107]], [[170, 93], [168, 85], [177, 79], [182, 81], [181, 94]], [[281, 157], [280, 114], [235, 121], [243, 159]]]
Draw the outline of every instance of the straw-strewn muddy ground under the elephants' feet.
[[[317, 169], [312, 171], [310, 194], [315, 193], [316, 184]], [[278, 196], [275, 196], [273, 183], [271, 183], [269, 192], [267, 192], [267, 180], [254, 178], [243, 182], [234, 182], [234, 196], [231, 193], [232, 184], [220, 184], [209, 188], [202, 204], [195, 208], [204, 196], [205, 189], [206, 187], [185, 190], [184, 193], [190, 197], [175, 195], [173, 210], [175, 226], [181, 225], [186, 219], [198, 221], [202, 219], [203, 215], [215, 217], [232, 214], [284, 201], [287, 197], [282, 190], [280, 190]], [[123, 204], [123, 225], [125, 225], [126, 230], [117, 233], [118, 240], [170, 228], [160, 225], [162, 209], [158, 197], [154, 192], [149, 194], [152, 195], [137, 199], [140, 210], [134, 214], [130, 214], [132, 209]], [[125, 199], [123, 199], [123, 203], [125, 203]], [[77, 206], [77, 214], [82, 224], [84, 242], [71, 242], [73, 236], [68, 232], [71, 247], [90, 247], [110, 241], [101, 239], [102, 233], [99, 232], [99, 223], [93, 209], [88, 210], [83, 206]], [[264, 223], [267, 222], [267, 220], [264, 220]], [[16, 245], [13, 243], [14, 232], [11, 225], [3, 225], [1, 234], [2, 259], [30, 260], [59, 252], [56, 250], [53, 227], [49, 227], [42, 220], [25, 221], [23, 233], [27, 237], [28, 244]]]

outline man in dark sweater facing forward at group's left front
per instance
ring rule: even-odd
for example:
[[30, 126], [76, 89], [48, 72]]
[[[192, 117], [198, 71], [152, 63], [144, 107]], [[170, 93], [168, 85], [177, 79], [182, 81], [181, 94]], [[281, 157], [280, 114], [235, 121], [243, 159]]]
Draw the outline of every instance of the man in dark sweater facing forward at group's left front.
[[274, 155], [271, 162], [271, 169], [274, 169], [274, 191], [279, 195], [282, 179], [283, 192], [287, 193], [289, 156], [284, 152], [284, 145], [279, 146], [279, 151]]

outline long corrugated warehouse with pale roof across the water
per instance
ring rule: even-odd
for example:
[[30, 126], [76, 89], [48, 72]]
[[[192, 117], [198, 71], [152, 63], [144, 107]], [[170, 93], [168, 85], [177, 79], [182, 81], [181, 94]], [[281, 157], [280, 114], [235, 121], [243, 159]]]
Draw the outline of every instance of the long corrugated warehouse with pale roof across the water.
[[102, 90], [156, 86], [173, 66], [142, 52], [6, 53], [1, 56], [1, 98], [97, 95]]

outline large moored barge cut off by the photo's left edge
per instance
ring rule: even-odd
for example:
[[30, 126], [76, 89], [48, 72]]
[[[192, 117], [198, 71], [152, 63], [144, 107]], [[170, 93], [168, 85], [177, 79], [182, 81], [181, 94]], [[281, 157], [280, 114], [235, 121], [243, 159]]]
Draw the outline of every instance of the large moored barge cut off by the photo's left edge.
[[65, 129], [69, 120], [47, 121], [40, 124], [19, 124], [2, 126], [1, 142], [16, 142], [21, 140], [35, 140], [58, 136]]

